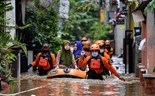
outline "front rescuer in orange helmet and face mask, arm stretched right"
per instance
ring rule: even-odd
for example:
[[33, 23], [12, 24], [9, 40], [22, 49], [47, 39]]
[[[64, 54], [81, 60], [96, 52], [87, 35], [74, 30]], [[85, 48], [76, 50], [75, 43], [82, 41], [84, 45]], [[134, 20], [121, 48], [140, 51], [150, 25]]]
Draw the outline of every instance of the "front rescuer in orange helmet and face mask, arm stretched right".
[[121, 78], [115, 68], [109, 64], [108, 60], [105, 57], [99, 55], [100, 47], [97, 44], [93, 44], [90, 47], [91, 56], [87, 56], [85, 59], [79, 58], [79, 67], [84, 67], [88, 65], [89, 70], [87, 71], [87, 79], [100, 79], [103, 80], [102, 72], [103, 66], [107, 68], [111, 73], [117, 76], [120, 80], [124, 80]]

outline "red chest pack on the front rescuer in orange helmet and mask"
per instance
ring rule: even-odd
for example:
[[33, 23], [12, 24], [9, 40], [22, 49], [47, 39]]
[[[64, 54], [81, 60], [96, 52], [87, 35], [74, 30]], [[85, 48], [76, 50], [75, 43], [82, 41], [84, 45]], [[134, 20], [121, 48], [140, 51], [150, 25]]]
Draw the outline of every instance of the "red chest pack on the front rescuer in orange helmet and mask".
[[96, 69], [102, 69], [104, 67], [102, 62], [102, 56], [98, 56], [97, 58], [93, 58], [92, 56], [88, 60], [88, 66], [90, 69], [96, 70]]

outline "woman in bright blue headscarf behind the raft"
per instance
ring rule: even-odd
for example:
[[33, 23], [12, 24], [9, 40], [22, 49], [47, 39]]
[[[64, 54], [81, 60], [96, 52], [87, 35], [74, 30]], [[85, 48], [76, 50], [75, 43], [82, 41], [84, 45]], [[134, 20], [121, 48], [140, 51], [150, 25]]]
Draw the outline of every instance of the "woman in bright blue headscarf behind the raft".
[[75, 60], [79, 58], [82, 52], [82, 43], [81, 41], [75, 41], [74, 46], [73, 46], [73, 54], [75, 57]]

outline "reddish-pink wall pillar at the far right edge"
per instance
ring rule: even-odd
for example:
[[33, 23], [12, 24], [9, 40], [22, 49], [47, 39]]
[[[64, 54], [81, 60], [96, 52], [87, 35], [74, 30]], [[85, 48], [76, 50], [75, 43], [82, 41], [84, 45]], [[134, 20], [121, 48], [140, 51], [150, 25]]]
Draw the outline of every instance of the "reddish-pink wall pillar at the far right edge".
[[146, 46], [143, 50], [142, 63], [146, 66], [148, 73], [153, 73], [155, 66], [155, 14], [148, 12], [146, 25], [142, 24], [142, 36], [146, 37]]

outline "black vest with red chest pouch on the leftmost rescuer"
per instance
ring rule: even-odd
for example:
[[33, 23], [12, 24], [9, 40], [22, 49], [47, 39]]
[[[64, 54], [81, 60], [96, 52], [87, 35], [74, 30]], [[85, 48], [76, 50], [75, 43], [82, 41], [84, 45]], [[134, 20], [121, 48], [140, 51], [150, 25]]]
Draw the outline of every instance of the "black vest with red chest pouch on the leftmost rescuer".
[[53, 64], [52, 64], [52, 57], [51, 54], [48, 53], [46, 56], [44, 56], [43, 54], [40, 55], [39, 58], [39, 67], [43, 67], [44, 70], [49, 70], [53, 68]]

